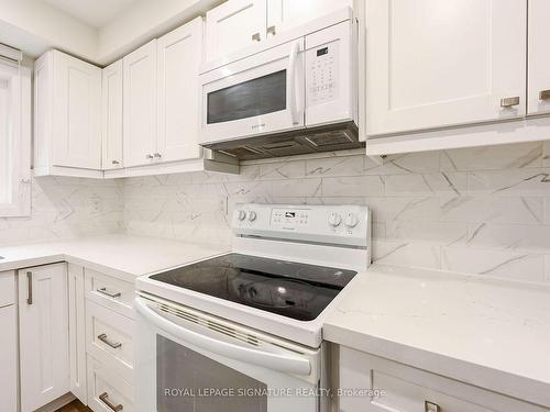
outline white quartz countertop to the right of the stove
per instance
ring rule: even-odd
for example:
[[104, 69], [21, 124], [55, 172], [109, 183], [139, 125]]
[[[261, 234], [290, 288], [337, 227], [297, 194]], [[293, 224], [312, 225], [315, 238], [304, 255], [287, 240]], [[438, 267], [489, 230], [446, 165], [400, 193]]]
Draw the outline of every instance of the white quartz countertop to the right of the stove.
[[550, 407], [550, 286], [373, 266], [323, 338]]

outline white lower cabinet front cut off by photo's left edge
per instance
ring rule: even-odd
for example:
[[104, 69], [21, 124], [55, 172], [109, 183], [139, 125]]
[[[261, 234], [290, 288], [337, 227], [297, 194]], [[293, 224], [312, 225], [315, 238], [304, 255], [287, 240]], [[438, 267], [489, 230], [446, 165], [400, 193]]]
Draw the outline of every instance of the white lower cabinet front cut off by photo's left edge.
[[18, 410], [18, 314], [15, 276], [0, 274], [0, 405], [2, 411]]

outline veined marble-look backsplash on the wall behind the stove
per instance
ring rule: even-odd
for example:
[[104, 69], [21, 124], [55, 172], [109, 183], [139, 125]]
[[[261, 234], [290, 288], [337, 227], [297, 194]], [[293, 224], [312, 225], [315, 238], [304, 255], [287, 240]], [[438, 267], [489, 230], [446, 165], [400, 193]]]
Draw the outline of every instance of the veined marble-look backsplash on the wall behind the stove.
[[550, 280], [550, 144], [246, 162], [123, 183], [130, 233], [231, 242], [235, 204], [367, 204], [381, 263]]

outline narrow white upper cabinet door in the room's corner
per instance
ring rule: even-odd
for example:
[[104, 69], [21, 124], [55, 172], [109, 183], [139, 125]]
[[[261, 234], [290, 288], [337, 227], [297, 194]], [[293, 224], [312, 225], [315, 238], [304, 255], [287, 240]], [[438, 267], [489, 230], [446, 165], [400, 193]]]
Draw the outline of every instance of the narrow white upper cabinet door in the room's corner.
[[103, 69], [101, 136], [105, 170], [122, 167], [122, 60]]

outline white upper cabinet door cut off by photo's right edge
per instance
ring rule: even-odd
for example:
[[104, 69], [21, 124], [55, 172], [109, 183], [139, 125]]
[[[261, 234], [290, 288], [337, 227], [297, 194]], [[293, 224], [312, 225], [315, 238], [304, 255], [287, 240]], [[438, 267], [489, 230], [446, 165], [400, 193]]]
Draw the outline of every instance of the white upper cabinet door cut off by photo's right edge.
[[528, 114], [550, 113], [550, 1], [529, 1]]

